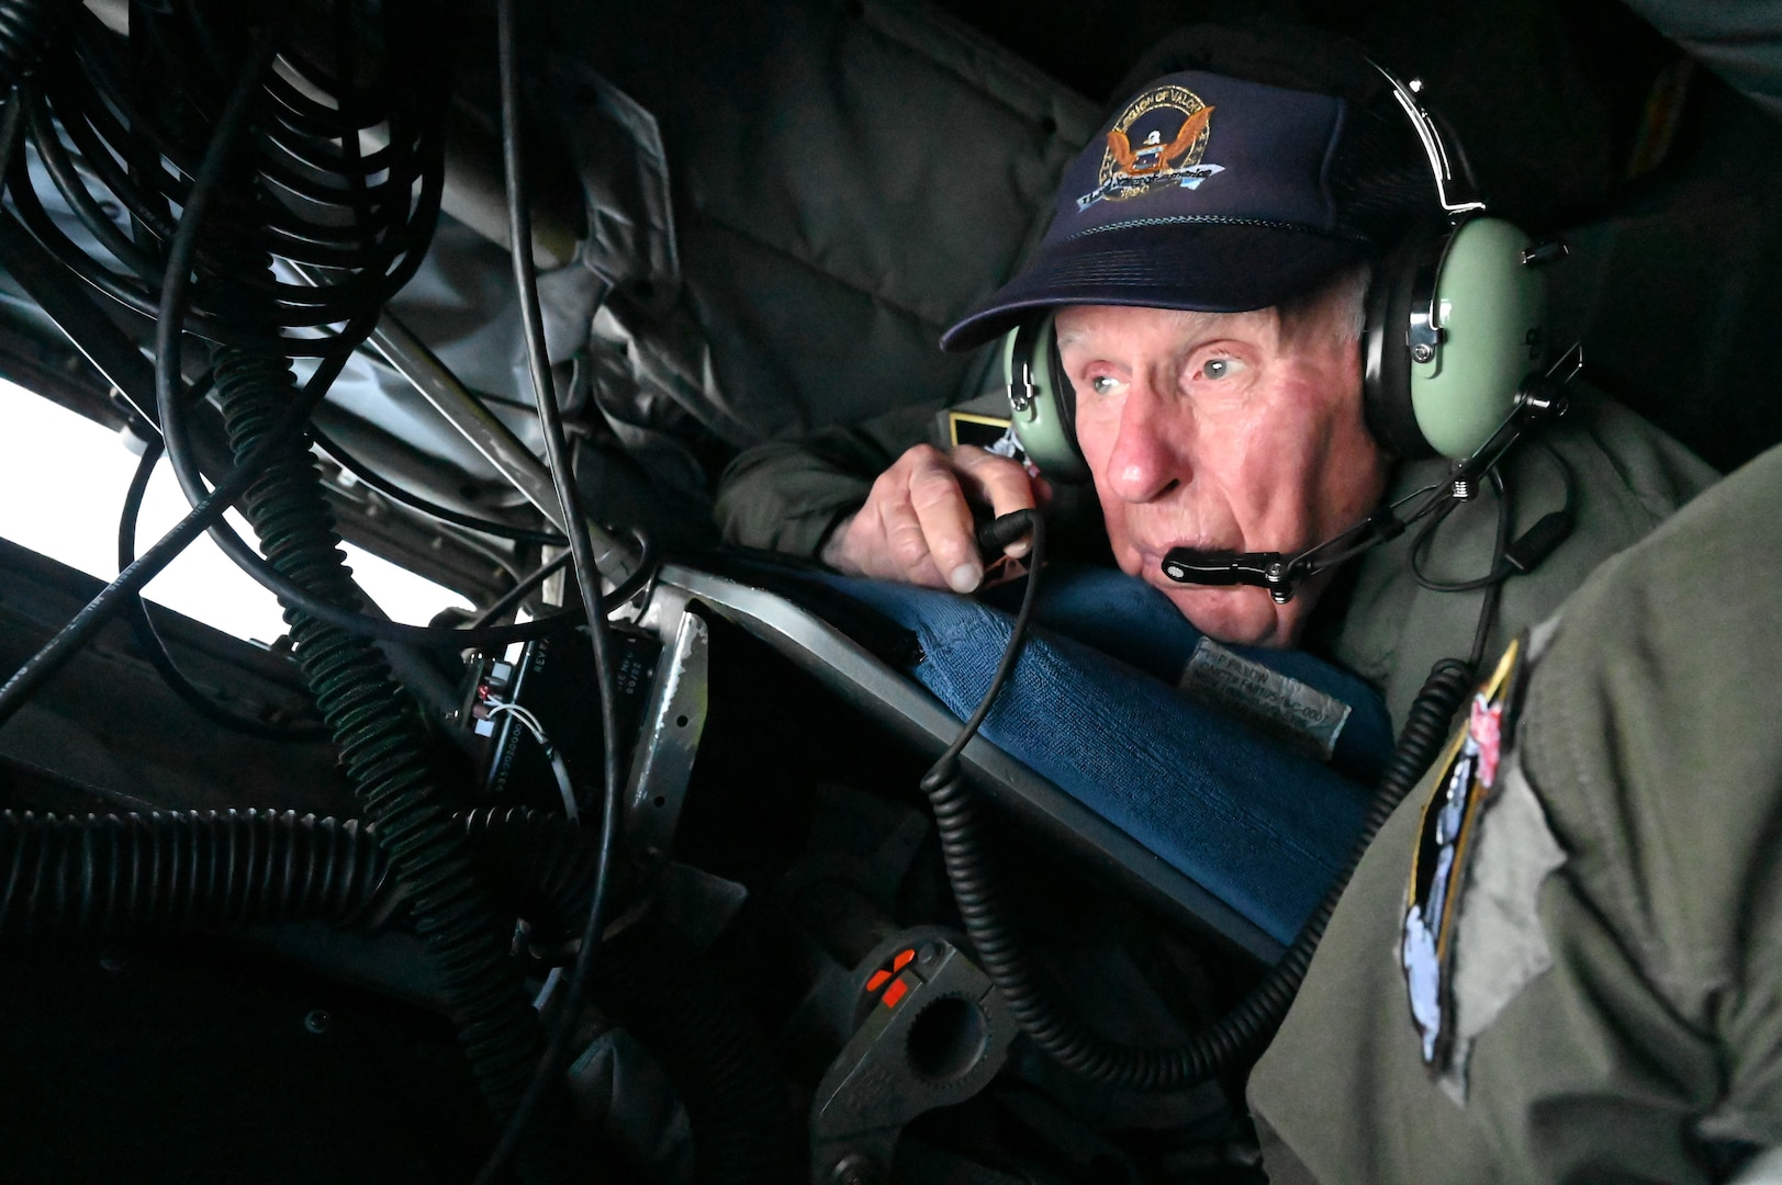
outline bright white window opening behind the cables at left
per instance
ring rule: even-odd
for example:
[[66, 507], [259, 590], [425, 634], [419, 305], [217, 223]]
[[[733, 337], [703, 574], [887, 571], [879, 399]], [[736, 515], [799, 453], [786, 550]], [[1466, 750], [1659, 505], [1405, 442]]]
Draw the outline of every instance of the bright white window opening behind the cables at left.
[[[0, 380], [0, 536], [91, 572], [118, 576], [118, 515], [137, 456], [123, 437]], [[166, 460], [155, 467], [137, 524], [137, 554], [148, 551], [189, 510]], [[253, 533], [239, 513], [230, 522]], [[397, 622], [426, 622], [462, 595], [346, 543], [347, 565], [365, 593]], [[228, 556], [200, 538], [157, 576], [144, 595], [237, 638], [271, 642], [285, 633], [278, 601]]]

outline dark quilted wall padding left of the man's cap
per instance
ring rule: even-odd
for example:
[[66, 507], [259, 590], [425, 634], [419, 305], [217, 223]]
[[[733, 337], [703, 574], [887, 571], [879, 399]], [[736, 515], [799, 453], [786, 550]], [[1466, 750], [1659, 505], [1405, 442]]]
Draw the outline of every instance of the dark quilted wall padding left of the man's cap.
[[[743, 449], [975, 383], [936, 342], [1037, 241], [1098, 103], [920, 0], [547, 7], [659, 123], [681, 290], [647, 296], [688, 323], [643, 328], [684, 413]], [[659, 403], [629, 419], [686, 431]]]

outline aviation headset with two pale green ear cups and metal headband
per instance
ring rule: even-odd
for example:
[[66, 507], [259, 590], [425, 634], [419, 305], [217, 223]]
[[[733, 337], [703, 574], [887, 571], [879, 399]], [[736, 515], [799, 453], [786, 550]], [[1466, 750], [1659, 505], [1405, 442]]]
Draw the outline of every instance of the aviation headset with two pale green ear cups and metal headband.
[[[1363, 333], [1363, 412], [1369, 431], [1404, 458], [1468, 458], [1509, 419], [1518, 392], [1545, 364], [1543, 264], [1565, 255], [1536, 244], [1454, 176], [1422, 84], [1370, 62], [1410, 118], [1429, 159], [1440, 214], [1424, 219], [1379, 262]], [[1076, 392], [1059, 358], [1051, 314], [1003, 337], [1003, 380], [1016, 438], [1051, 481], [1083, 483]]]

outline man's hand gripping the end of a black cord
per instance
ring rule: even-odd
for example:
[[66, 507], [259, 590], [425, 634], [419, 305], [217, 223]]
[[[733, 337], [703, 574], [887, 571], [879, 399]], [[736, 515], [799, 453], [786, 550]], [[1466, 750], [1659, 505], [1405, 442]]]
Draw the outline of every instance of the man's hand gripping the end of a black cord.
[[[971, 503], [1001, 517], [1035, 508], [1044, 494], [1044, 481], [1012, 458], [973, 445], [948, 456], [918, 444], [879, 474], [866, 504], [829, 535], [822, 560], [854, 576], [966, 593], [984, 579]], [[1003, 551], [1025, 556], [1026, 549], [1023, 538]]]

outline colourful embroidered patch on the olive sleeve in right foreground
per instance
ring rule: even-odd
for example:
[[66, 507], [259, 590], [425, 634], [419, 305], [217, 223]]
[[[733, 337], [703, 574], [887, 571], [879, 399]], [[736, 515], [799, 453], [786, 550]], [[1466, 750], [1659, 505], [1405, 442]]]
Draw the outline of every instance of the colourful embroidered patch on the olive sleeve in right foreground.
[[1431, 1073], [1447, 1069], [1454, 1048], [1454, 921], [1479, 811], [1497, 784], [1504, 738], [1515, 725], [1522, 682], [1522, 640], [1509, 643], [1467, 713], [1467, 725], [1435, 764], [1429, 802], [1417, 829], [1406, 891], [1399, 964], [1410, 989], [1411, 1023]]

